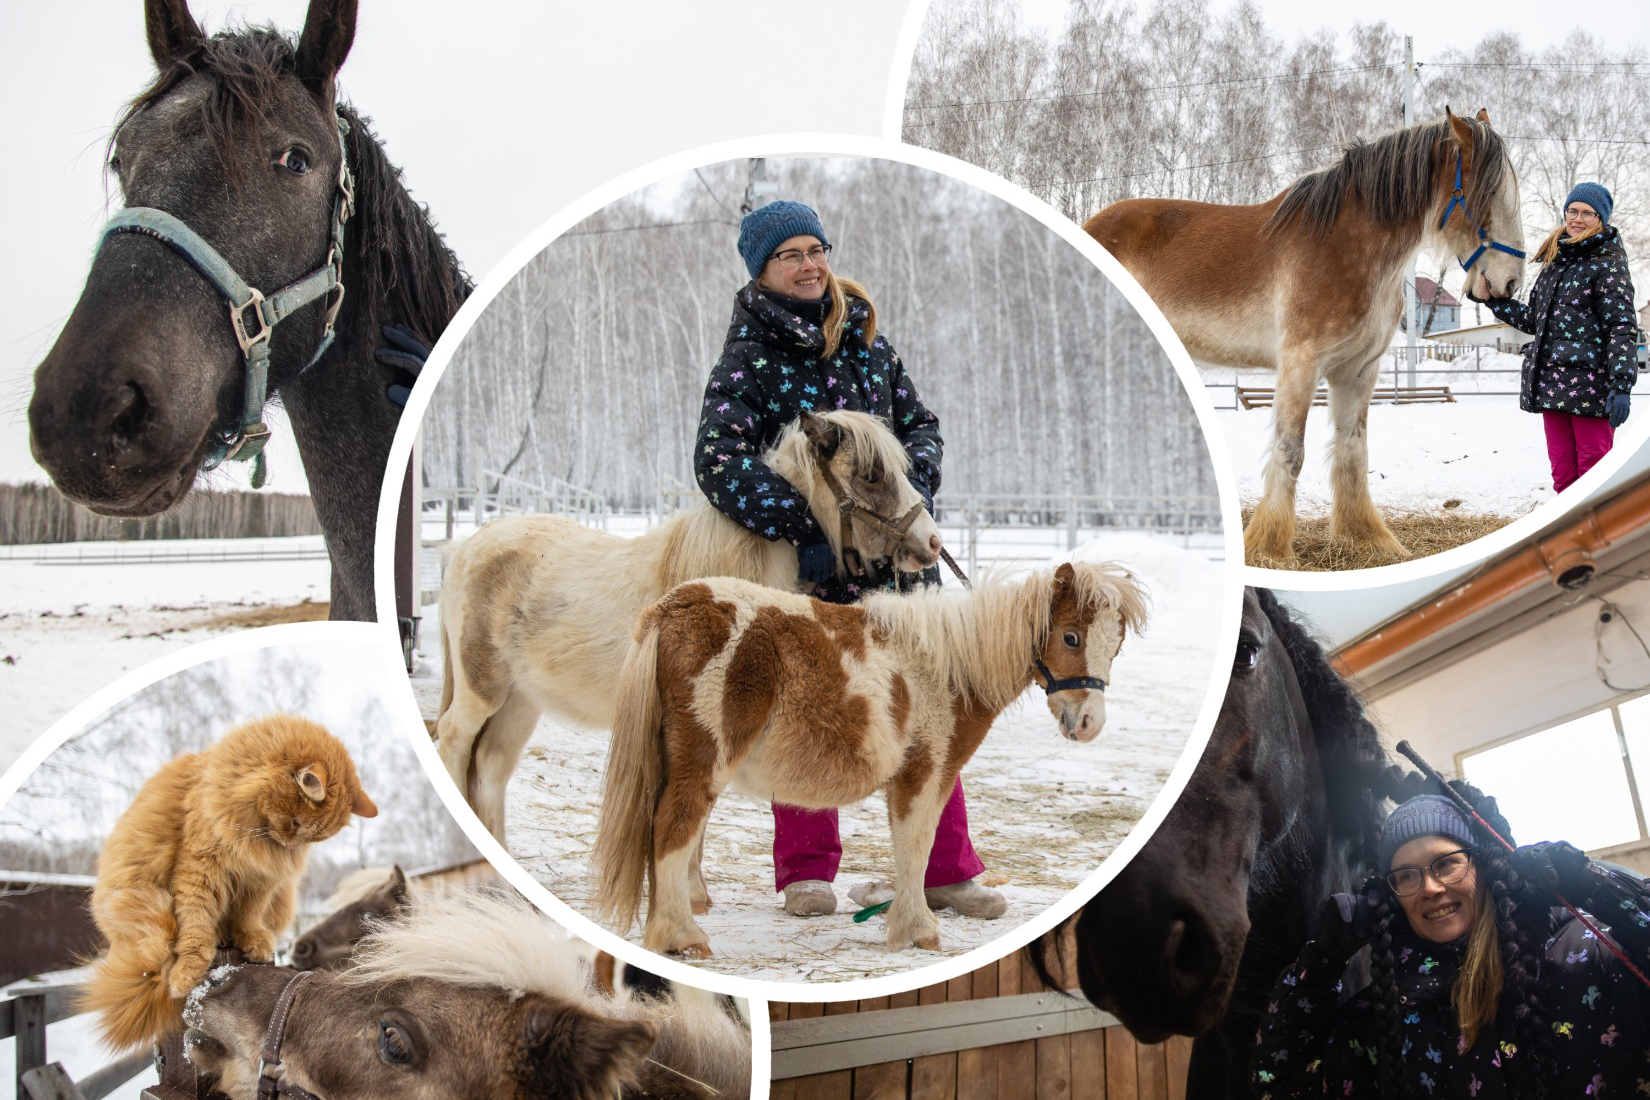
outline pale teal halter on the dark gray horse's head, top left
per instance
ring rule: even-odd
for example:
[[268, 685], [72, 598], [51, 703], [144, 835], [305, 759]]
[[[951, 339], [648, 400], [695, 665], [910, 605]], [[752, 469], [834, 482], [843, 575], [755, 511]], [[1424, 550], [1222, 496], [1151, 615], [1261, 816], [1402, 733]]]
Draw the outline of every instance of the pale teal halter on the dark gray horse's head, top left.
[[350, 157], [343, 147], [343, 135], [350, 132], [350, 124], [337, 112], [335, 119], [338, 120], [338, 186], [332, 200], [327, 261], [297, 282], [272, 294], [262, 294], [257, 287], [248, 285], [229, 266], [229, 261], [205, 237], [178, 218], [152, 206], [122, 209], [109, 219], [97, 241], [97, 249], [102, 251], [109, 237], [119, 233], [153, 237], [186, 259], [229, 307], [229, 328], [234, 331], [234, 340], [241, 345], [241, 356], [246, 360], [241, 422], [231, 430], [216, 432], [216, 440], [201, 460], [201, 468], [216, 470], [229, 460], [252, 460], [252, 488], [262, 488], [266, 477], [264, 444], [269, 442], [269, 425], [264, 424], [264, 402], [269, 397], [269, 338], [274, 335], [276, 325], [299, 308], [315, 299], [335, 295], [327, 303], [320, 345], [304, 364], [307, 371], [332, 346], [333, 323], [338, 320], [338, 307], [343, 305], [343, 224], [355, 213], [355, 176], [350, 173]]

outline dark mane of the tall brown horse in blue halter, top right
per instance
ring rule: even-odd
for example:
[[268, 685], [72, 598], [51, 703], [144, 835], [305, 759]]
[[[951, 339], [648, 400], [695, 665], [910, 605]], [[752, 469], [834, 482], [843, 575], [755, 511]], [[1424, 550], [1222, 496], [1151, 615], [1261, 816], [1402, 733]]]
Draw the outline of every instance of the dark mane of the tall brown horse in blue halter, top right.
[[[1472, 162], [1462, 180], [1467, 208], [1482, 216], [1505, 180], [1506, 145], [1488, 124], [1477, 119], [1460, 122], [1472, 129], [1472, 148], [1462, 150]], [[1282, 229], [1299, 219], [1307, 233], [1322, 236], [1353, 193], [1363, 198], [1370, 216], [1383, 226], [1421, 221], [1436, 203], [1434, 155], [1444, 147], [1460, 148], [1449, 119], [1393, 130], [1371, 142], [1358, 139], [1346, 145], [1336, 163], [1290, 183], [1266, 228]]]

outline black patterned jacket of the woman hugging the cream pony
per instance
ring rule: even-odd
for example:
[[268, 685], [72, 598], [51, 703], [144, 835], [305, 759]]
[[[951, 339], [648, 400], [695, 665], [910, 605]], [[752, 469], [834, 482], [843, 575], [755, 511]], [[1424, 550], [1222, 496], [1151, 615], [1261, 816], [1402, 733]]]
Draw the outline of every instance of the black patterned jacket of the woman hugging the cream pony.
[[[804, 409], [851, 409], [888, 421], [911, 457], [911, 483], [934, 503], [944, 442], [939, 419], [924, 407], [904, 363], [878, 333], [865, 343], [870, 307], [848, 300], [848, 330], [823, 360], [825, 331], [746, 284], [734, 297], [721, 358], [705, 388], [693, 447], [693, 473], [711, 505], [766, 539], [795, 546], [820, 538], [807, 501], [761, 455]], [[932, 572], [932, 571], [931, 571]], [[888, 587], [894, 574], [832, 577], [817, 597], [853, 602], [866, 587]], [[929, 577], [937, 581], [937, 574]]]

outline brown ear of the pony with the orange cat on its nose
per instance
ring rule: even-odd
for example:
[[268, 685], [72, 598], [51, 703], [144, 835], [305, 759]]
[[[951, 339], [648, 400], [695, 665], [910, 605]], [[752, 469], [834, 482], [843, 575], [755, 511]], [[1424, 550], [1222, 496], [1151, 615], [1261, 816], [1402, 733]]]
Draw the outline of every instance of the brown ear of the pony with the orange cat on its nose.
[[658, 1041], [645, 1019], [609, 1019], [564, 1001], [533, 998], [521, 1021], [521, 1095], [610, 1100], [635, 1082]]

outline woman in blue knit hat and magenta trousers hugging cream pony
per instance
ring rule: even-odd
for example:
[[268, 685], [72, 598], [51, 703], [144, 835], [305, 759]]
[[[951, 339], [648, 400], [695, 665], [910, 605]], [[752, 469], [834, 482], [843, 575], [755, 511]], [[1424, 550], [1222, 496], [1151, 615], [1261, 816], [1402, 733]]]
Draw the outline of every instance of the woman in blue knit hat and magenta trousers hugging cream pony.
[[[751, 282], [734, 295], [733, 323], [705, 388], [693, 472], [723, 515], [797, 548], [799, 579], [815, 597], [851, 604], [868, 590], [893, 587], [896, 574], [873, 562], [870, 574], [838, 576], [825, 533], [800, 495], [762, 462], [762, 452], [805, 409], [873, 412], [899, 437], [911, 457], [911, 483], [932, 511], [942, 440], [939, 419], [876, 330], [871, 295], [832, 270], [830, 251], [818, 214], [802, 203], [769, 203], [739, 223], [739, 256]], [[937, 572], [931, 581], [939, 582]], [[840, 858], [835, 810], [774, 805], [774, 889], [784, 892], [787, 912], [837, 910], [832, 881]], [[983, 867], [969, 841], [959, 780], [929, 856], [929, 905], [1000, 917], [1008, 907], [1003, 896], [974, 881]]]

